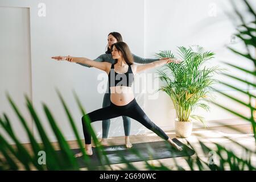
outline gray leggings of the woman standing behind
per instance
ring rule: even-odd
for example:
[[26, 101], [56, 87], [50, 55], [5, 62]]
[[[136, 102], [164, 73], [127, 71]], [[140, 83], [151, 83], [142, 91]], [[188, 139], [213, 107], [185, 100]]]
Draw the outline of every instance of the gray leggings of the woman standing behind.
[[[109, 93], [104, 94], [102, 107], [110, 106], [110, 90]], [[123, 118], [123, 128], [125, 129], [125, 136], [130, 135], [131, 129], [131, 118], [122, 115]], [[109, 134], [109, 126], [110, 126], [110, 119], [102, 120], [102, 138], [108, 138]]]

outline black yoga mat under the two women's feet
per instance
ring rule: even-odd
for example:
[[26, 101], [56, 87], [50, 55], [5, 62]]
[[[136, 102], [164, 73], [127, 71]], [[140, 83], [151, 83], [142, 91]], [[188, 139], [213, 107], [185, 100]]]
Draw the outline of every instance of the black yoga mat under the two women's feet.
[[[172, 139], [178, 146], [183, 148], [182, 151], [176, 150], [166, 141], [160, 142], [147, 142], [147, 143], [134, 143], [132, 148], [126, 148], [124, 144], [116, 146], [104, 146], [105, 155], [108, 156], [110, 164], [124, 163], [123, 159], [127, 162], [138, 162], [143, 160], [153, 159], [165, 159], [175, 158], [180, 156], [191, 156], [195, 154], [195, 151], [181, 143], [176, 138]], [[93, 165], [105, 165], [108, 164], [105, 158], [102, 158], [102, 164], [96, 154], [96, 148], [92, 148], [93, 155], [89, 156]], [[80, 148], [72, 149], [74, 154], [80, 152]], [[135, 153], [137, 151], [137, 153]], [[57, 153], [60, 154], [59, 151]], [[140, 156], [137, 154], [139, 153]], [[86, 167], [82, 157], [77, 158], [80, 167]]]

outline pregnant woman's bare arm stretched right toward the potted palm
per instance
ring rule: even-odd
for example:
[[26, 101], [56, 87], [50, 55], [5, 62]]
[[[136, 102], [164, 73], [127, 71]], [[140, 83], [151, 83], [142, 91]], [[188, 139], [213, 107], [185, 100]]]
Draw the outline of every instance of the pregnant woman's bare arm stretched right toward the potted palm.
[[177, 63], [179, 64], [181, 61], [177, 59], [164, 59], [159, 61], [154, 61], [153, 63], [143, 64], [143, 65], [135, 65], [133, 64], [133, 72], [139, 73], [145, 71], [146, 69], [160, 67], [167, 63]]

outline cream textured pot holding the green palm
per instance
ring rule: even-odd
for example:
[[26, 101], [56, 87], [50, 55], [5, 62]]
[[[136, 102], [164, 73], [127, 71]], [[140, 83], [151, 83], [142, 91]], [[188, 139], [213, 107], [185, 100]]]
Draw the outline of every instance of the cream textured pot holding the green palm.
[[187, 138], [191, 135], [193, 129], [193, 122], [187, 121], [179, 121], [177, 118], [175, 119], [175, 133], [177, 137]]

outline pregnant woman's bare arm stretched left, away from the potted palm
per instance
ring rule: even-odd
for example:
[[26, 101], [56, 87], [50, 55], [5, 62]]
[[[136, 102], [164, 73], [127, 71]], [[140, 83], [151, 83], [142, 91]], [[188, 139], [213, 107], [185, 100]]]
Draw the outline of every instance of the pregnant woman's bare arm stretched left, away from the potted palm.
[[98, 62], [90, 60], [86, 57], [72, 57], [72, 56], [53, 56], [52, 59], [56, 60], [67, 60], [72, 63], [86, 64], [90, 67], [101, 69], [102, 71], [108, 72], [110, 63], [107, 62]]

